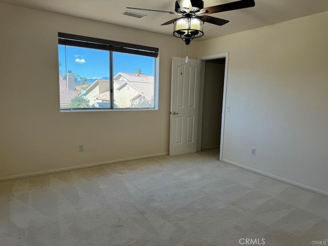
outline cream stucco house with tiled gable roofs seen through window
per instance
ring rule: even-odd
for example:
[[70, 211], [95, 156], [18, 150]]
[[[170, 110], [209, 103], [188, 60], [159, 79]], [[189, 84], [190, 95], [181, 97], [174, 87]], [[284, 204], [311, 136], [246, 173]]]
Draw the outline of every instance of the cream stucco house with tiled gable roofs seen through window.
[[[114, 80], [114, 108], [129, 108], [137, 100], [154, 104], [154, 76], [132, 73], [118, 73]], [[99, 103], [110, 104], [109, 80], [97, 79], [86, 89], [85, 96], [91, 107]]]

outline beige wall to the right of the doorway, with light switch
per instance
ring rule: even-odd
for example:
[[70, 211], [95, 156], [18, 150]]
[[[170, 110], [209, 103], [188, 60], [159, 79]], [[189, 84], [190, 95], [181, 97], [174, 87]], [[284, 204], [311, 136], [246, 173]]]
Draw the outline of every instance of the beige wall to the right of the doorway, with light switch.
[[223, 159], [328, 194], [327, 23], [324, 12], [198, 43], [198, 56], [229, 52]]

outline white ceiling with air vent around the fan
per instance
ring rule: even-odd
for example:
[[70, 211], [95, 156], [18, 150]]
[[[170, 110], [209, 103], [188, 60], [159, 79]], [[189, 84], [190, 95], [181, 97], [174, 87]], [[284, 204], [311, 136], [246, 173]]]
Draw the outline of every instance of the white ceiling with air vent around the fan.
[[[122, 15], [128, 10], [125, 7], [174, 11], [175, 0], [0, 0], [0, 2], [166, 35], [172, 35], [173, 25], [160, 25], [176, 17], [169, 13], [141, 10], [132, 10], [132, 12], [147, 16], [135, 18]], [[235, 1], [204, 0], [204, 7], [230, 2]], [[253, 8], [211, 14], [214, 17], [228, 19], [230, 22], [221, 27], [206, 23], [204, 36], [201, 39], [224, 36], [324, 11], [328, 11], [328, 0], [255, 0]]]

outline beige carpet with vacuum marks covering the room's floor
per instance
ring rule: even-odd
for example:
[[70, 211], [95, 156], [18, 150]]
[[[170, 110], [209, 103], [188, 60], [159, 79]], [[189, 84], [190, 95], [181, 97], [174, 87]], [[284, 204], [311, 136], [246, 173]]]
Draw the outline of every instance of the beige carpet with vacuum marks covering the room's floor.
[[2, 182], [0, 245], [328, 244], [328, 197], [217, 157], [210, 150]]

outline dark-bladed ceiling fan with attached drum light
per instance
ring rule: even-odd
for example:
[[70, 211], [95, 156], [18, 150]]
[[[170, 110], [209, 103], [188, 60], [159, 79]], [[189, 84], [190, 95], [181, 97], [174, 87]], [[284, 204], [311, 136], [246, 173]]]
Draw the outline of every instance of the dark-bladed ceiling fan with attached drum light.
[[161, 24], [169, 25], [174, 24], [173, 35], [180, 37], [186, 41], [189, 45], [193, 38], [201, 37], [204, 33], [202, 31], [204, 22], [214, 25], [222, 26], [227, 24], [229, 20], [221, 19], [207, 14], [219, 13], [224, 11], [231, 11], [236, 9], [244, 9], [254, 7], [254, 0], [240, 0], [232, 3], [216, 5], [212, 7], [204, 8], [204, 2], [202, 0], [176, 0], [175, 11], [163, 11], [154, 9], [141, 9], [127, 7], [127, 9], [137, 9], [146, 11], [156, 11], [162, 13], [170, 13], [180, 15], [177, 18], [171, 19], [166, 23]]

